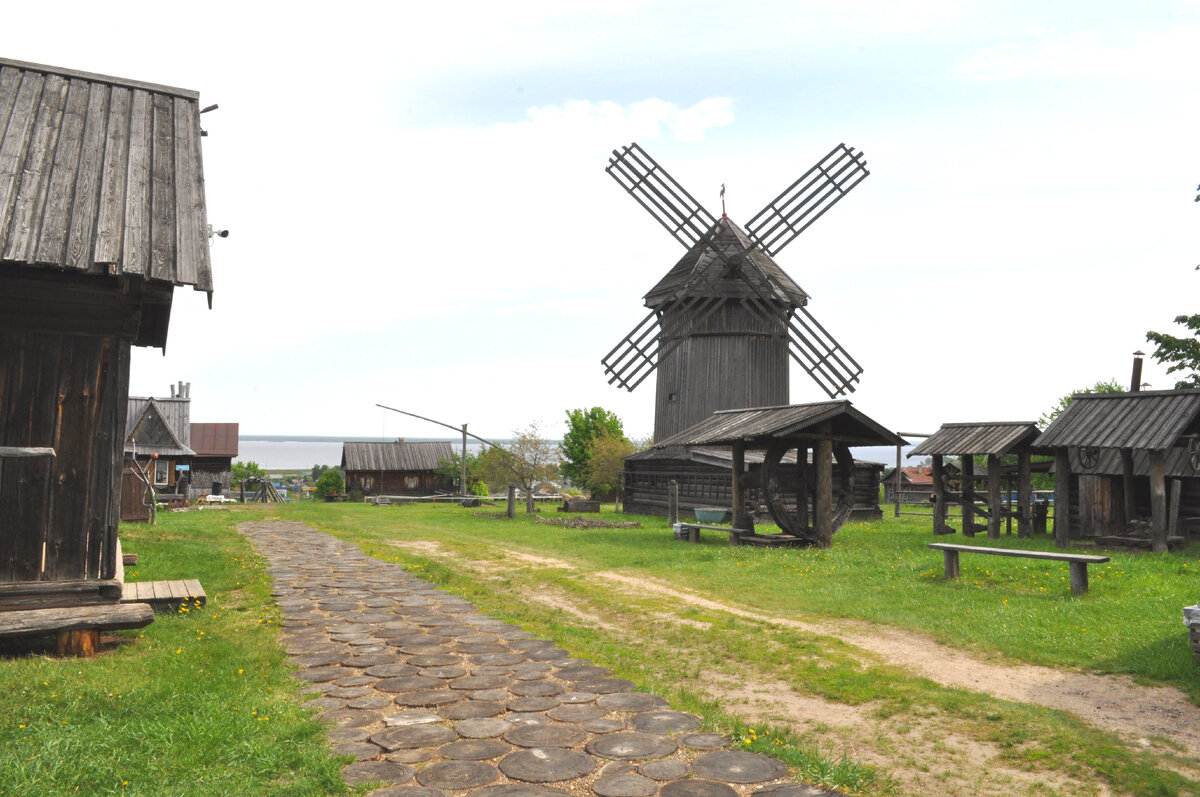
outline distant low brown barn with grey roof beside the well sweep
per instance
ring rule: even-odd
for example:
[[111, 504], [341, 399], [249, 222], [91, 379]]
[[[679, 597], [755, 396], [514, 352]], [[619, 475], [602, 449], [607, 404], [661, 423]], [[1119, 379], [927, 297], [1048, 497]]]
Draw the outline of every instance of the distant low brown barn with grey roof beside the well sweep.
[[364, 496], [431, 496], [451, 492], [454, 480], [434, 471], [454, 457], [445, 441], [406, 443], [343, 443], [342, 472], [347, 492]]

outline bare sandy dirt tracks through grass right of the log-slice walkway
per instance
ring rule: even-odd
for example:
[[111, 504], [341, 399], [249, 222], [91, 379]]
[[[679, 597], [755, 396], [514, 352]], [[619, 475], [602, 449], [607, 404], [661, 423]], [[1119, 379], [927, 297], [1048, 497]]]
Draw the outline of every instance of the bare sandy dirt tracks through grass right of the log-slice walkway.
[[[414, 540], [395, 545], [424, 556], [454, 561], [481, 574], [494, 574], [512, 567], [577, 570], [575, 565], [560, 559], [514, 551], [505, 552], [503, 559], [488, 561], [469, 558], [436, 541]], [[946, 687], [971, 689], [1004, 700], [1070, 712], [1090, 725], [1116, 733], [1130, 744], [1158, 748], [1164, 753], [1174, 751], [1154, 738], [1162, 737], [1170, 744], [1177, 745], [1184, 755], [1200, 757], [1200, 707], [1192, 705], [1176, 689], [1142, 687], [1124, 676], [1100, 676], [1036, 665], [990, 663], [941, 645], [923, 634], [880, 628], [856, 621], [840, 619], [834, 624], [764, 615], [655, 579], [616, 571], [587, 575], [589, 579], [611, 583], [614, 592], [631, 597], [650, 594], [671, 598], [673, 603], [685, 603], [691, 607], [727, 612], [736, 617], [832, 636], [875, 654], [887, 664], [901, 666]], [[546, 592], [528, 597], [587, 622], [612, 628], [612, 618], [602, 618], [596, 612], [589, 611], [588, 606], [564, 594]], [[680, 601], [679, 598], [684, 600]], [[658, 616], [666, 622], [696, 623], [668, 612]], [[732, 682], [718, 677], [697, 685], [714, 699], [740, 705], [734, 713], [744, 715], [750, 721], [782, 720], [799, 727], [842, 729], [846, 731], [842, 738], [847, 747], [854, 750], [856, 756], [878, 763], [889, 772], [899, 772], [904, 786], [919, 790], [913, 793], [1004, 795], [1027, 790], [1032, 790], [1030, 793], [1037, 793], [1037, 786], [1056, 789], [1062, 793], [1108, 793], [1105, 789], [1094, 784], [1079, 791], [1058, 778], [1048, 779], [1045, 774], [1031, 775], [1004, 767], [997, 768], [998, 750], [989, 750], [988, 745], [980, 745], [978, 742], [961, 745], [953, 751], [953, 755], [948, 755], [946, 739], [934, 727], [937, 725], [936, 721], [930, 721], [930, 727], [922, 729], [919, 721], [913, 727], [912, 718], [907, 718], [905, 720], [907, 726], [900, 729], [900, 732], [910, 749], [888, 755], [881, 754], [878, 745], [854, 744], [854, 737], [856, 733], [863, 736], [864, 729], [870, 729], [868, 733], [876, 736], [893, 733], [896, 729], [889, 725], [898, 723], [872, 718], [870, 712], [862, 708], [800, 695], [786, 684], [779, 683], [748, 682], [744, 678]], [[959, 772], [938, 772], [937, 767], [931, 769], [928, 766], [930, 761], [948, 762], [955, 756], [959, 759], [955, 762]], [[911, 759], [911, 766], [904, 765], [906, 757]], [[972, 769], [979, 774], [972, 775]], [[1194, 777], [1195, 773], [1189, 774]]]

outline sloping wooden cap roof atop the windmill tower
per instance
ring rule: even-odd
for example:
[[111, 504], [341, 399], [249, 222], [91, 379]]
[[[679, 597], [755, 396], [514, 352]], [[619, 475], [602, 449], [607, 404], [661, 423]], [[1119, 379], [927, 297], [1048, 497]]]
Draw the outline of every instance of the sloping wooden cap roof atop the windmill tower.
[[[774, 258], [756, 248], [745, 232], [728, 218], [721, 218], [710, 230], [716, 240], [716, 246], [725, 253], [726, 259], [744, 259], [743, 269], [757, 269], [775, 294], [775, 298], [790, 307], [803, 307], [809, 301], [809, 294], [787, 276]], [[689, 292], [688, 295], [719, 295], [742, 296], [756, 295], [737, 275], [722, 276], [726, 270], [722, 260], [713, 248], [704, 241], [700, 241], [688, 253], [679, 258], [679, 262], [667, 271], [659, 283], [646, 294], [647, 307], [659, 307], [670, 301], [682, 298], [684, 288], [694, 283], [703, 283], [708, 287], [698, 292]]]

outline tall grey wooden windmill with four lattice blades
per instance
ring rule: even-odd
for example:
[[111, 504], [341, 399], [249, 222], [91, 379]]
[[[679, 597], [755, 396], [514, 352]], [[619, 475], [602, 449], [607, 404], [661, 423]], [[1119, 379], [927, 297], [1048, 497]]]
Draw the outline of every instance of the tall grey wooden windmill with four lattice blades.
[[654, 439], [719, 409], [788, 403], [788, 358], [830, 398], [854, 390], [862, 366], [774, 257], [870, 174], [862, 152], [833, 148], [744, 229], [636, 143], [613, 150], [605, 170], [688, 250], [646, 294], [649, 314], [601, 360], [608, 384], [626, 390], [658, 371]]

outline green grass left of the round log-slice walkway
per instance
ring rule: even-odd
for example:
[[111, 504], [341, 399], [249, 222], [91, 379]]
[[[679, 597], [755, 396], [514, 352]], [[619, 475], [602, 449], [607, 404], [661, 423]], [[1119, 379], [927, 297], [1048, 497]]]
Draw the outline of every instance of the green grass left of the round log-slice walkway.
[[0, 795], [330, 795], [346, 791], [301, 708], [251, 510], [121, 527], [137, 581], [198, 577], [204, 609], [160, 615], [92, 659], [0, 658]]

